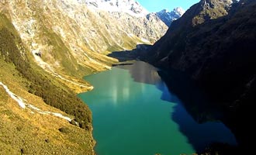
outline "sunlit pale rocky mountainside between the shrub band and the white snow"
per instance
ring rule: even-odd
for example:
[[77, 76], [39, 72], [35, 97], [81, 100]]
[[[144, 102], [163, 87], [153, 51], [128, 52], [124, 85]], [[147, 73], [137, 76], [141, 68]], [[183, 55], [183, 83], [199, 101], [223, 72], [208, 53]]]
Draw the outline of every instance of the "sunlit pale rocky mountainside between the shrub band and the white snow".
[[[115, 62], [102, 53], [154, 43], [167, 29], [156, 16], [88, 9], [86, 2], [22, 0], [0, 5], [37, 64], [77, 91], [80, 85], [80, 91], [91, 88], [72, 77], [109, 69]], [[77, 82], [71, 84], [70, 79]]]

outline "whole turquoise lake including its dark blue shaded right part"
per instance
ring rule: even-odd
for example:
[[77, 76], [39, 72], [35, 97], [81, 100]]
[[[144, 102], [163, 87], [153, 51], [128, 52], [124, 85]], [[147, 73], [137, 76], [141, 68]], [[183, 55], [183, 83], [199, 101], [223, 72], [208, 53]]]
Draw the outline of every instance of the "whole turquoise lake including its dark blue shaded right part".
[[99, 155], [192, 154], [213, 142], [236, 144], [222, 122], [195, 121], [150, 64], [135, 61], [85, 80], [94, 89], [78, 96], [92, 110]]

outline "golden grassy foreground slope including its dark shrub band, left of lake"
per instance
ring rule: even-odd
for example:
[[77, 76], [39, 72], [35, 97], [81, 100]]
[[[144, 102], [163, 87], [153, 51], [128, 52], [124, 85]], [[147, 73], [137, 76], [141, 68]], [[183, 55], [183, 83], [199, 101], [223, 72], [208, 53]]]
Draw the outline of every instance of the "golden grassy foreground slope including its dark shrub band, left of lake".
[[[87, 130], [52, 115], [22, 110], [0, 87], [0, 153], [92, 154], [92, 114], [88, 106], [64, 84], [30, 61], [32, 57], [23, 47], [12, 23], [0, 14], [0, 81], [39, 108], [51, 112], [60, 112], [56, 109], [60, 108], [74, 115], [80, 126]], [[63, 126], [70, 132], [59, 132]]]

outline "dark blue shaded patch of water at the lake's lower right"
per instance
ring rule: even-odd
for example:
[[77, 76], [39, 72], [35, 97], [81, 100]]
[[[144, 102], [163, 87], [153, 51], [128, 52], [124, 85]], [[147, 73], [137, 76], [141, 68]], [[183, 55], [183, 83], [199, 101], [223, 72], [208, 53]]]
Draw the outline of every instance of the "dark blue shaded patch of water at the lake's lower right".
[[220, 121], [199, 123], [185, 111], [182, 104], [175, 107], [171, 119], [178, 123], [180, 131], [188, 137], [195, 150], [202, 151], [211, 143], [229, 143], [237, 145], [235, 137], [230, 129]]

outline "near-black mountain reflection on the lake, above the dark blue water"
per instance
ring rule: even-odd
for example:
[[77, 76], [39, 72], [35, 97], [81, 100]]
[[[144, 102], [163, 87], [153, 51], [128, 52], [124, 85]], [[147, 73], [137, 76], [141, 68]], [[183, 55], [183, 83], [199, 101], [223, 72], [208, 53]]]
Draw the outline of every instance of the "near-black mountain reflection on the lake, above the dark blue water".
[[[185, 74], [178, 71], [171, 71], [168, 74], [158, 71], [158, 74], [168, 85], [168, 90], [178, 95], [181, 104], [196, 122], [203, 123], [221, 119], [221, 109], [211, 104], [203, 91], [197, 88]], [[170, 100], [170, 102], [175, 101]]]

